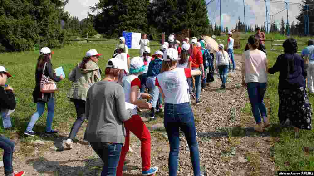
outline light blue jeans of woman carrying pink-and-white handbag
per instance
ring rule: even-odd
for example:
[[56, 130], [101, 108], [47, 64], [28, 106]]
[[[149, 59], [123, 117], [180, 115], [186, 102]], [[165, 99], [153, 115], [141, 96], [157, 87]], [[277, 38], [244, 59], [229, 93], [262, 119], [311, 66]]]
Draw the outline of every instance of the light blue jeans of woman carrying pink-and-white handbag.
[[[45, 102], [37, 102], [37, 111], [35, 114], [30, 118], [30, 122], [28, 123], [28, 126], [26, 128], [27, 131], [33, 131], [33, 127], [38, 120], [38, 118], [44, 113], [45, 110]], [[48, 114], [47, 114], [47, 122], [46, 122], [46, 131], [51, 131], [51, 124], [53, 120], [53, 116], [55, 113], [55, 100], [53, 97], [50, 96], [49, 102], [47, 103], [48, 107]]]

